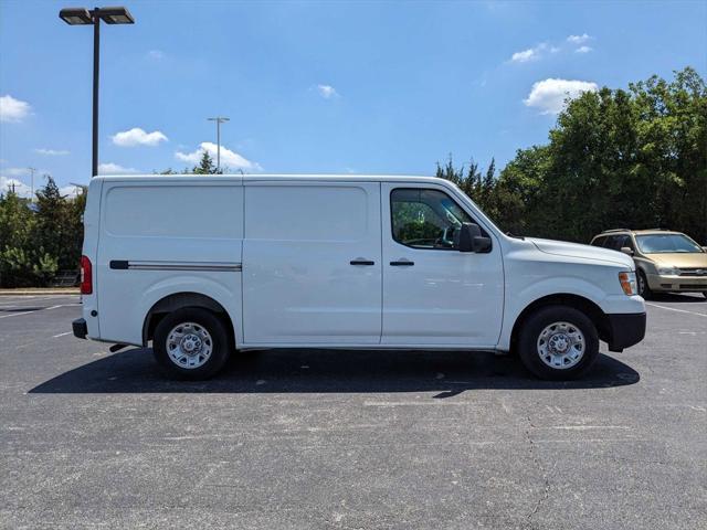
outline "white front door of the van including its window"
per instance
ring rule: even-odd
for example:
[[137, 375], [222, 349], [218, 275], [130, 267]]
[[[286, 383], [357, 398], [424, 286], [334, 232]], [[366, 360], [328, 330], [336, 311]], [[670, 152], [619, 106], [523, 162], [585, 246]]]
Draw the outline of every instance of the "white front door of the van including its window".
[[495, 347], [504, 304], [498, 241], [481, 224], [490, 252], [458, 252], [456, 231], [476, 220], [443, 187], [383, 183], [381, 199], [381, 342]]

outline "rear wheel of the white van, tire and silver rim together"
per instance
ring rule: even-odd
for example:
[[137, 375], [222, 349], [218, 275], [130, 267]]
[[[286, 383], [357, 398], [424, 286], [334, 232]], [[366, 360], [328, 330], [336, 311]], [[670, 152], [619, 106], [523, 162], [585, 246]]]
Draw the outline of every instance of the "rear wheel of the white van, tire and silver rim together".
[[186, 307], [167, 315], [155, 329], [155, 358], [171, 375], [201, 380], [213, 377], [229, 356], [229, 335], [213, 312]]

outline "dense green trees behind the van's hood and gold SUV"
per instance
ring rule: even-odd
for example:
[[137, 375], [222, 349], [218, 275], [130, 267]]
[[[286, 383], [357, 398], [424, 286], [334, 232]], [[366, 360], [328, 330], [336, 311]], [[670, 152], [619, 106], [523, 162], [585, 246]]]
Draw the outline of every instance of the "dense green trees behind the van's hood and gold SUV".
[[437, 163], [516, 235], [588, 243], [606, 229], [662, 227], [707, 244], [707, 88], [690, 67], [568, 102], [544, 146], [496, 176]]

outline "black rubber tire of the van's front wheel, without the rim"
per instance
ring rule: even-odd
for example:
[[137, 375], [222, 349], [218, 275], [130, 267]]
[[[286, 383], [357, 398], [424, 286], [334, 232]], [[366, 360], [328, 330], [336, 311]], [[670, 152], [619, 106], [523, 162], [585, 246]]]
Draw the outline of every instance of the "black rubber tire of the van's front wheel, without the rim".
[[[579, 361], [569, 368], [552, 368], [542, 361], [538, 352], [540, 333], [555, 322], [568, 322], [584, 336], [583, 353]], [[540, 379], [578, 379], [587, 373], [599, 356], [599, 333], [589, 317], [573, 307], [542, 307], [524, 322], [518, 336], [518, 354], [525, 367]]]

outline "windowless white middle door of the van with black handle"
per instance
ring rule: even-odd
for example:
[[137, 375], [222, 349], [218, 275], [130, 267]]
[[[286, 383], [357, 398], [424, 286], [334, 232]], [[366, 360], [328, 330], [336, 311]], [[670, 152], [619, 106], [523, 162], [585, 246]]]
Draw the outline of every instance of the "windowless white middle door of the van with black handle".
[[245, 342], [379, 343], [380, 183], [244, 186]]

